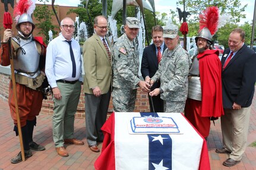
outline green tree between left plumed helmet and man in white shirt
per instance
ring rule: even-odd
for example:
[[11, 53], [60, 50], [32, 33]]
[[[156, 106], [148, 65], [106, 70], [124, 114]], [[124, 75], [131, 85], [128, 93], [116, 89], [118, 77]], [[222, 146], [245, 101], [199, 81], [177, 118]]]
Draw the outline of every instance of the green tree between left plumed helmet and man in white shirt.
[[46, 44], [48, 44], [49, 40], [49, 30], [52, 30], [53, 36], [57, 34], [57, 31], [55, 31], [55, 28], [58, 28], [56, 25], [52, 25], [52, 16], [54, 15], [52, 10], [48, 9], [48, 6], [45, 4], [48, 2], [48, 0], [40, 0], [40, 2], [44, 2], [42, 6], [37, 5], [36, 9], [34, 9], [33, 15], [36, 18], [37, 21], [39, 21], [38, 24], [36, 24], [36, 27], [40, 30], [39, 34], [43, 35], [43, 41], [45, 41]]

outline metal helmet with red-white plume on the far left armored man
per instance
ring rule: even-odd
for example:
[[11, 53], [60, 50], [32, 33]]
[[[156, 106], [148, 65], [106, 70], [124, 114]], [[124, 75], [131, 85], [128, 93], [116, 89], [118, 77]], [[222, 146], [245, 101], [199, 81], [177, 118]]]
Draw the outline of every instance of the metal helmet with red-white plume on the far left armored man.
[[34, 12], [36, 8], [36, 0], [20, 0], [16, 4], [14, 8], [14, 17], [15, 22], [17, 23], [16, 28], [17, 30], [20, 29], [21, 23], [29, 22], [32, 24], [32, 31], [36, 27], [34, 25], [33, 20], [31, 18], [31, 14]]

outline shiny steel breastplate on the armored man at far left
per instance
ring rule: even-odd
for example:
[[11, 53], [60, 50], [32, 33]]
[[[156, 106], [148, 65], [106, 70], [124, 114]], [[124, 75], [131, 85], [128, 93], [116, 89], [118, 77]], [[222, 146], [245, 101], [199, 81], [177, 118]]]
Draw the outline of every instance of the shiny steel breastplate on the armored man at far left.
[[32, 38], [17, 40], [15, 37], [13, 40], [20, 44], [17, 57], [14, 58], [15, 73], [35, 78], [40, 73], [40, 54], [37, 51], [36, 41]]

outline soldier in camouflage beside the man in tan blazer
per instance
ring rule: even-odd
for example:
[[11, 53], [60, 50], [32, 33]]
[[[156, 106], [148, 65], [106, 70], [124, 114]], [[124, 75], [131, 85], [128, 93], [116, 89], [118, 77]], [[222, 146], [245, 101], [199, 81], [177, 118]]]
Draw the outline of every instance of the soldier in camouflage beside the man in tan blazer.
[[132, 112], [137, 88], [150, 92], [149, 84], [138, 78], [139, 52], [134, 39], [138, 34], [139, 21], [127, 17], [125, 34], [113, 45], [113, 108], [119, 112]]

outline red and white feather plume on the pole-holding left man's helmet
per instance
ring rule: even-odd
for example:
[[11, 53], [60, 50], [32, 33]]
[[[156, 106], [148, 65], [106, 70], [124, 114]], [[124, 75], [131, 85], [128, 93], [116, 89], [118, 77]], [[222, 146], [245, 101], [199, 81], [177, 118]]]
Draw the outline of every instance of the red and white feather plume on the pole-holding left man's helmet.
[[33, 2], [28, 0], [18, 1], [13, 11], [16, 23], [18, 22], [18, 18], [20, 18], [20, 15], [24, 14], [24, 12], [27, 12], [32, 4]]

